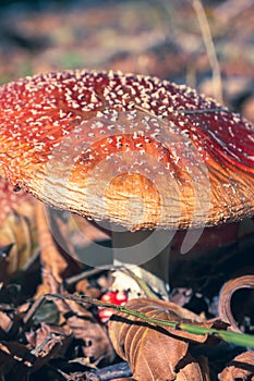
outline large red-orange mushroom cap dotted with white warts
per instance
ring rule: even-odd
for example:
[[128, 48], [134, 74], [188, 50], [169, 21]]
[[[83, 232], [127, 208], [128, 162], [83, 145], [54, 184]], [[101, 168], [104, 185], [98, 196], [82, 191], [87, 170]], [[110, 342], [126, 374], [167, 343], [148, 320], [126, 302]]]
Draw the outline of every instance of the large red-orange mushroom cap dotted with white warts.
[[254, 214], [254, 127], [195, 90], [65, 71], [0, 88], [0, 175], [53, 207], [130, 230]]

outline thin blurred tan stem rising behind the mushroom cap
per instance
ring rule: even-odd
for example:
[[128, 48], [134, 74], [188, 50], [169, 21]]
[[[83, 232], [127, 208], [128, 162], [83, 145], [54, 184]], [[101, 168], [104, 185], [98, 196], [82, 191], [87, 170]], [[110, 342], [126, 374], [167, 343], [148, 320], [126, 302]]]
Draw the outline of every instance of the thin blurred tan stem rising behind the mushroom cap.
[[214, 87], [214, 97], [218, 101], [222, 102], [222, 82], [220, 65], [216, 54], [215, 45], [213, 41], [209, 23], [206, 17], [206, 13], [201, 0], [193, 0], [193, 9], [196, 12], [196, 17], [199, 23], [203, 40], [206, 47], [206, 53], [209, 60], [211, 73], [213, 73], [213, 87]]

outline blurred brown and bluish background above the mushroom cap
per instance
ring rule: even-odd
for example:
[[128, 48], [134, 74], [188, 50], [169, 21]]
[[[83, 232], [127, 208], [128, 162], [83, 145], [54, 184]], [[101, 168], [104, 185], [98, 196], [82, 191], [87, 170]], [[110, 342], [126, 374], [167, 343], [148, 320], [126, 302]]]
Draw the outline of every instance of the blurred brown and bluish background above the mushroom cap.
[[[203, 2], [223, 101], [254, 110], [254, 1]], [[213, 67], [190, 0], [1, 0], [0, 84], [64, 69], [121, 70], [213, 94]]]

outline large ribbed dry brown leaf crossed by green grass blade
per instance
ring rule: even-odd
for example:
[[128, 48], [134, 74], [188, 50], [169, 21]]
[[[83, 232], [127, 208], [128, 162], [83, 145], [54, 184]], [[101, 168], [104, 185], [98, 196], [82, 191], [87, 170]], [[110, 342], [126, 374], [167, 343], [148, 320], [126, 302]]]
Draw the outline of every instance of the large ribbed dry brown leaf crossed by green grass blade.
[[[132, 299], [126, 307], [147, 317], [170, 321], [201, 322], [193, 312], [170, 302], [155, 299]], [[168, 327], [153, 327], [136, 317], [120, 314], [109, 322], [109, 335], [118, 355], [126, 360], [133, 371], [135, 380], [179, 380], [186, 379], [186, 373], [195, 374], [195, 380], [204, 380], [198, 364], [186, 357], [188, 341], [198, 343], [206, 340], [205, 336], [176, 331]], [[208, 324], [207, 324], [208, 327]], [[184, 339], [184, 340], [182, 340]], [[180, 360], [189, 358], [193, 366], [188, 367], [179, 374], [177, 369]], [[189, 374], [189, 376], [190, 376]], [[182, 378], [182, 379], [181, 379]]]

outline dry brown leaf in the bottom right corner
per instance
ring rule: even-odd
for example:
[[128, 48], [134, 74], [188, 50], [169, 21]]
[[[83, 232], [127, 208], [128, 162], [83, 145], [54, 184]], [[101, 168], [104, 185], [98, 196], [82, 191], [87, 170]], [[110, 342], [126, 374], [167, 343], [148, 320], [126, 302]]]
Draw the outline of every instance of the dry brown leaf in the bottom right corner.
[[220, 381], [253, 381], [254, 352], [244, 352], [234, 359], [218, 376]]

